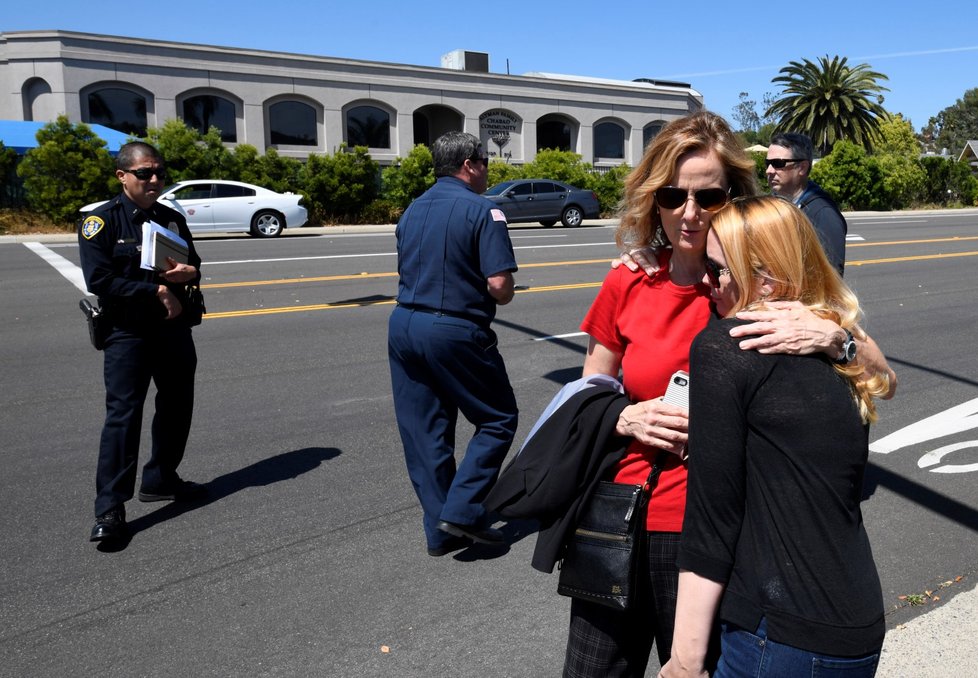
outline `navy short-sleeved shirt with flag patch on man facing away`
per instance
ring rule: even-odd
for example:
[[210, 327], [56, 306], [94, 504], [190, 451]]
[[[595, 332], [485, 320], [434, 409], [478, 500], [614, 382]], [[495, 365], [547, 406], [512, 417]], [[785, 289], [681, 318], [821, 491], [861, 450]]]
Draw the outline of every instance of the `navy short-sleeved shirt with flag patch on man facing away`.
[[506, 216], [455, 177], [440, 177], [397, 224], [397, 301], [489, 322], [486, 280], [517, 270]]

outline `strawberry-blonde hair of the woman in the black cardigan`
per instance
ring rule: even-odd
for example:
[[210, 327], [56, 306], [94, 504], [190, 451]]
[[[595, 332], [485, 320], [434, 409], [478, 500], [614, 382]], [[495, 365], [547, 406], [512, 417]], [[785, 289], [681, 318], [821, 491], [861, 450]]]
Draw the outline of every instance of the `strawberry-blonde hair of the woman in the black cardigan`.
[[[767, 301], [800, 301], [813, 313], [864, 339], [859, 300], [829, 263], [811, 222], [794, 204], [774, 196], [733, 200], [714, 215], [713, 232], [739, 297], [727, 317], [765, 308]], [[759, 297], [759, 281], [771, 288]], [[876, 421], [873, 398], [889, 390], [885, 374], [865, 377], [861, 366], [835, 365], [852, 386], [863, 423]]]

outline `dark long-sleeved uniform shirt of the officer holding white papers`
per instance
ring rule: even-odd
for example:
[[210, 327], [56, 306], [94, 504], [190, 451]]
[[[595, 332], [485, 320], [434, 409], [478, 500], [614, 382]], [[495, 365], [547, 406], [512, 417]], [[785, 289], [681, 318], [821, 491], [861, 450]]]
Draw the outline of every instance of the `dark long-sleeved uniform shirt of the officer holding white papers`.
[[86, 215], [78, 231], [85, 285], [119, 324], [144, 326], [163, 321], [166, 309], [156, 297], [161, 284], [169, 287], [181, 303], [185, 298], [183, 284], [168, 283], [156, 271], [139, 267], [142, 225], [146, 221], [175, 230], [187, 241], [187, 263], [198, 269], [197, 280], [200, 279], [200, 257], [183, 215], [159, 203], [140, 209], [125, 193], [120, 193]]

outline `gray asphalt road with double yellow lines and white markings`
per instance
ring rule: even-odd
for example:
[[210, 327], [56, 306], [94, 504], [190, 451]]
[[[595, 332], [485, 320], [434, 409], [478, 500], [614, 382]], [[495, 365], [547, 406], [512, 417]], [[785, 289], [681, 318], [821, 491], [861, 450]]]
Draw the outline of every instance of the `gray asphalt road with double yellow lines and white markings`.
[[[920, 645], [925, 621], [934, 638], [973, 623], [940, 615], [974, 601], [978, 577], [976, 223], [849, 219], [846, 277], [900, 377], [864, 503], [893, 652]], [[181, 472], [210, 498], [131, 502], [134, 538], [110, 553], [87, 541], [102, 361], [77, 247], [0, 238], [0, 676], [559, 675], [569, 604], [529, 567], [529, 526], [502, 526], [505, 553], [425, 553], [387, 372], [390, 229], [286, 233], [198, 241], [209, 314]], [[578, 323], [615, 247], [607, 225], [512, 235], [522, 289], [496, 330], [521, 439], [579, 374]], [[908, 661], [974, 675], [969, 651], [891, 652], [879, 675], [921, 675]]]

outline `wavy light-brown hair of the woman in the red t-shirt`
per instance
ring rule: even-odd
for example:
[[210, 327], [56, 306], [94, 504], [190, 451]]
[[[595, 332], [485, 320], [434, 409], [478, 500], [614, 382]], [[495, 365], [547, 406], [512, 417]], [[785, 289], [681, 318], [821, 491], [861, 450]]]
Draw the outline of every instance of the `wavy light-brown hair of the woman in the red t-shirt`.
[[726, 120], [709, 111], [673, 120], [649, 143], [641, 162], [625, 177], [618, 207], [621, 222], [615, 232], [622, 251], [670, 244], [662, 229], [655, 191], [669, 185], [680, 158], [703, 150], [720, 159], [732, 197], [757, 193], [754, 162]]

